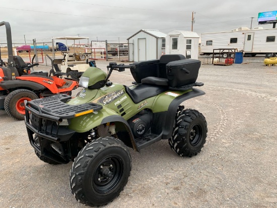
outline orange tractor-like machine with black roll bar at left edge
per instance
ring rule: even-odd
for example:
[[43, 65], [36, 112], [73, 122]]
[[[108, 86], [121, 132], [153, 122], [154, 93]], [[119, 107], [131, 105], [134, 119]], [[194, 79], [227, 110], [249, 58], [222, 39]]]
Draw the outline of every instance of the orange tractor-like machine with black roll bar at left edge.
[[24, 120], [24, 100], [56, 93], [71, 94], [78, 82], [58, 76], [48, 77], [47, 72], [31, 72], [30, 68], [38, 64], [27, 65], [20, 56], [13, 56], [11, 27], [8, 22], [0, 22], [0, 26], [3, 25], [7, 32], [8, 62], [2, 61], [0, 53], [0, 109], [5, 109], [14, 119]]

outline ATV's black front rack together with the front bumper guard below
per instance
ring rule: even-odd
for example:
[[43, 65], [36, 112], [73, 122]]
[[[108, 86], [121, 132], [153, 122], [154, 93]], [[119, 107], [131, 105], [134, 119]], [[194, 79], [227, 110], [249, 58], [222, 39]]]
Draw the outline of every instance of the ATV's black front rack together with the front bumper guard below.
[[41, 149], [35, 145], [34, 133], [54, 142], [66, 141], [75, 131], [67, 128], [67, 120], [65, 120], [67, 125], [60, 125], [63, 119], [75, 118], [102, 109], [102, 106], [95, 103], [68, 105], [65, 101], [69, 99], [71, 99], [69, 95], [57, 94], [25, 103], [27, 132], [30, 143], [36, 151], [40, 152]]

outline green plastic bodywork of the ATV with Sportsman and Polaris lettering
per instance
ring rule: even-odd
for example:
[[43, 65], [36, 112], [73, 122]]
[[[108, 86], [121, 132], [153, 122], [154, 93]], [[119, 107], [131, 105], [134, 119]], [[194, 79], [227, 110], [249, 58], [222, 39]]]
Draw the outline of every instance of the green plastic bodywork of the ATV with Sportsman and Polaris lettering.
[[70, 100], [68, 104], [79, 105], [86, 102], [94, 102], [102, 105], [103, 109], [72, 119], [69, 128], [83, 133], [99, 126], [102, 120], [108, 116], [120, 116], [126, 121], [144, 109], [151, 109], [153, 113], [166, 112], [174, 98], [189, 91], [191, 90], [168, 90], [135, 104], [126, 93], [125, 87], [121, 84], [112, 84], [100, 89], [85, 88], [78, 97]]

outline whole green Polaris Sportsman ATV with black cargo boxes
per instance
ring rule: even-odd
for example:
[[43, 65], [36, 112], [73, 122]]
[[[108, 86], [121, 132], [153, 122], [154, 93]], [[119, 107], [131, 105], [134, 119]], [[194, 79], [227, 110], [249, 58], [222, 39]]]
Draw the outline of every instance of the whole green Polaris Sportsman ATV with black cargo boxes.
[[[113, 71], [129, 68], [135, 82], [109, 81]], [[201, 151], [205, 117], [181, 102], [205, 94], [193, 88], [200, 61], [182, 55], [130, 65], [110, 63], [108, 74], [89, 67], [72, 99], [65, 94], [26, 101], [25, 123], [37, 157], [48, 164], [74, 161], [70, 186], [75, 198], [91, 206], [112, 201], [131, 171], [129, 148], [140, 152], [161, 139], [181, 157]]]

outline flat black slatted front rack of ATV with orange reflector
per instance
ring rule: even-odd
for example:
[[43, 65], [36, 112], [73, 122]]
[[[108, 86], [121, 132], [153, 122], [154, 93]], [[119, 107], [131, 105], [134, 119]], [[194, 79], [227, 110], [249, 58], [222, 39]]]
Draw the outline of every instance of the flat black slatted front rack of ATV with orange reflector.
[[68, 105], [65, 103], [71, 98], [70, 95], [56, 94], [45, 98], [34, 99], [26, 103], [26, 113], [27, 111], [31, 111], [35, 114], [40, 114], [40, 116], [46, 119], [53, 119], [58, 122], [61, 119], [71, 119], [81, 114], [100, 111], [103, 108], [101, 105], [92, 102], [81, 105]]

